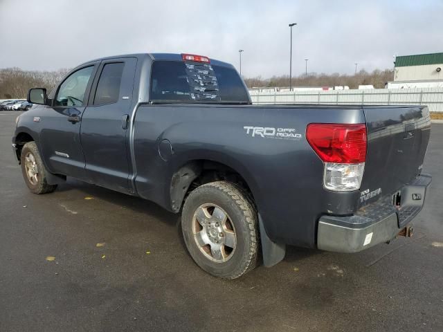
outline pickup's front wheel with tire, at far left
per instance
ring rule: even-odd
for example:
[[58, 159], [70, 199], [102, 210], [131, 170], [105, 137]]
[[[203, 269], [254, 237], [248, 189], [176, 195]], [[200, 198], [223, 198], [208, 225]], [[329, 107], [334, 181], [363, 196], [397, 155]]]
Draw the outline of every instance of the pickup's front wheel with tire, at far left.
[[49, 185], [46, 178], [46, 168], [43, 165], [35, 142], [27, 142], [21, 149], [21, 174], [29, 190], [34, 194], [53, 192], [57, 185]]

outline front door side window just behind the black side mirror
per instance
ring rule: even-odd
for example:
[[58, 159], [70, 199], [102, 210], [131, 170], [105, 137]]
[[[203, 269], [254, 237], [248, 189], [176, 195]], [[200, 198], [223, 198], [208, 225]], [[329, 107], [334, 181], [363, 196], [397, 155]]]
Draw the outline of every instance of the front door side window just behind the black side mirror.
[[55, 105], [82, 106], [84, 104], [84, 93], [91, 79], [93, 68], [93, 66], [82, 68], [66, 78], [58, 89]]

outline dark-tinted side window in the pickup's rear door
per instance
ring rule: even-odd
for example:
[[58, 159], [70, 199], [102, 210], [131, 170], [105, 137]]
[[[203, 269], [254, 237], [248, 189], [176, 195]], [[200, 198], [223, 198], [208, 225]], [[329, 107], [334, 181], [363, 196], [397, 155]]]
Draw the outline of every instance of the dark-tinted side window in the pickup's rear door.
[[94, 96], [94, 105], [112, 104], [118, 101], [124, 67], [123, 62], [103, 66]]

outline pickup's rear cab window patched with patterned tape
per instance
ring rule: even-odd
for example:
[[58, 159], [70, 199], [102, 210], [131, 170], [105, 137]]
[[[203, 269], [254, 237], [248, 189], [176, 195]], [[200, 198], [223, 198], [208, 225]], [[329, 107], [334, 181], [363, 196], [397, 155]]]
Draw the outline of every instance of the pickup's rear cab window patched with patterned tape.
[[197, 62], [155, 61], [150, 93], [153, 102], [249, 103], [234, 68]]

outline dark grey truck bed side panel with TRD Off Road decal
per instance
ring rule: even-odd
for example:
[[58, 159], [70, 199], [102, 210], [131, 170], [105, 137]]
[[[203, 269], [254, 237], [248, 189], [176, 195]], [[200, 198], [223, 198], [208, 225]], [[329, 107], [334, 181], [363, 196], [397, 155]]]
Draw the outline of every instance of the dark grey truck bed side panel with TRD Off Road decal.
[[[305, 139], [311, 122], [364, 123], [365, 118], [359, 107], [142, 105], [134, 122], [136, 190], [172, 210], [174, 173], [193, 160], [213, 160], [244, 178], [273, 241], [314, 247], [318, 217], [352, 214], [359, 192], [323, 188], [323, 163]], [[262, 137], [260, 130], [253, 135], [245, 127], [266, 133], [291, 129], [300, 136]], [[162, 158], [165, 142], [172, 154]]]

